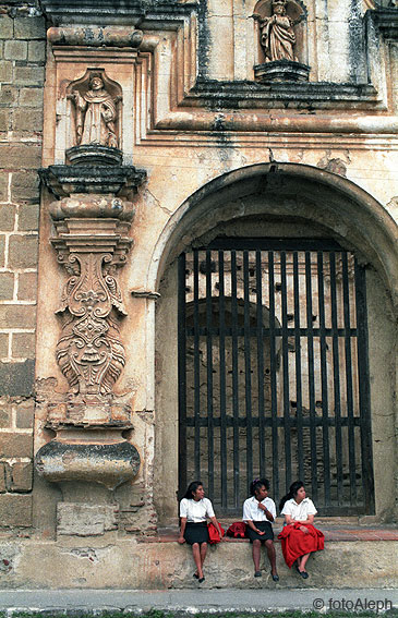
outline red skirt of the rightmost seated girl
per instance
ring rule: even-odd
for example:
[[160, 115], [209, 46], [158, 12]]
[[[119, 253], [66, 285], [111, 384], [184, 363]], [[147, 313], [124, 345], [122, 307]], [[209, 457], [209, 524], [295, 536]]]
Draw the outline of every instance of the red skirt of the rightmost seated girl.
[[[309, 534], [300, 530], [301, 525], [307, 529]], [[278, 538], [281, 541], [284, 558], [289, 569], [291, 569], [293, 562], [300, 558], [300, 556], [310, 554], [310, 552], [319, 552], [319, 549], [324, 548], [325, 544], [324, 533], [310, 523], [286, 525], [278, 534]]]

